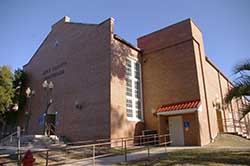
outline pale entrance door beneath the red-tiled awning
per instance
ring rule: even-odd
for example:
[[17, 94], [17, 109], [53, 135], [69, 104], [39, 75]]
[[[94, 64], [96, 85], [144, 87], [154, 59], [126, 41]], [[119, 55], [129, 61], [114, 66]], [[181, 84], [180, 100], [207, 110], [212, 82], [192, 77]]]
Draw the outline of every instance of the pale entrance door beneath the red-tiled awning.
[[168, 118], [171, 145], [184, 145], [182, 116]]

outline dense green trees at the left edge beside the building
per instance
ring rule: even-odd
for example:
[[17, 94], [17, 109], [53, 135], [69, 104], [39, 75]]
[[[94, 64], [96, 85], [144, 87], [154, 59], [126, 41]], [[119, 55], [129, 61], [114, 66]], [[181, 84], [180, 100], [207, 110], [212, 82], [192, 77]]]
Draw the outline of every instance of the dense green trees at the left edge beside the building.
[[[0, 128], [6, 131], [17, 125], [17, 116], [24, 112], [27, 75], [17, 69], [13, 74], [10, 67], [0, 67]], [[15, 108], [15, 109], [14, 109]]]

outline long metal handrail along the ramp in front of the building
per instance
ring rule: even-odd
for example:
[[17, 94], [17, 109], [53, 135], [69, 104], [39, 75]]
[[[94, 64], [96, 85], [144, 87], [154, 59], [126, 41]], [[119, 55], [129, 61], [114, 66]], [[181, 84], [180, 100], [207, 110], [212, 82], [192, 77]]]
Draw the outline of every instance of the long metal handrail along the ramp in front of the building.
[[[138, 139], [139, 138], [139, 139]], [[110, 155], [124, 155], [125, 162], [128, 160], [128, 154], [134, 150], [147, 150], [148, 157], [150, 156], [150, 149], [155, 146], [166, 146], [170, 144], [170, 134], [151, 134], [151, 135], [140, 135], [134, 137], [124, 137], [109, 139], [106, 142], [92, 143], [87, 145], [67, 145], [66, 147], [61, 147], [56, 149], [46, 149], [42, 151], [33, 152], [33, 156], [43, 157], [44, 165], [54, 165], [54, 164], [65, 164], [72, 163], [76, 161], [92, 160], [93, 165], [95, 165], [95, 159]], [[146, 149], [145, 149], [146, 148]], [[7, 163], [15, 163], [20, 160], [3, 161], [3, 158], [12, 158], [11, 155], [24, 155], [23, 152], [18, 152], [15, 154], [0, 155], [0, 165]], [[72, 156], [73, 155], [73, 156]], [[76, 156], [75, 156], [76, 155]], [[79, 157], [79, 155], [81, 157]], [[55, 161], [55, 158], [60, 158]], [[1, 163], [2, 161], [2, 163]]]

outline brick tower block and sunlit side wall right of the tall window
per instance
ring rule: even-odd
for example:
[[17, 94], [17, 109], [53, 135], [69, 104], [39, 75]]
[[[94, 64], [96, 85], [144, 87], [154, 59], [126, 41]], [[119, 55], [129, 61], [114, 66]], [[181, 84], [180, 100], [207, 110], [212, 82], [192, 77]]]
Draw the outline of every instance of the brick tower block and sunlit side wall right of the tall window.
[[[143, 36], [138, 39], [138, 47], [143, 50], [146, 129], [165, 134], [169, 130], [164, 122], [168, 116], [157, 117], [154, 111], [162, 105], [199, 99], [201, 111], [181, 115], [183, 122], [190, 124], [188, 130], [183, 130], [185, 145], [206, 145], [218, 132], [243, 131], [247, 123], [238, 122], [237, 102], [223, 105], [231, 83], [206, 57], [202, 33], [192, 20]], [[215, 107], [217, 100], [220, 109]]]

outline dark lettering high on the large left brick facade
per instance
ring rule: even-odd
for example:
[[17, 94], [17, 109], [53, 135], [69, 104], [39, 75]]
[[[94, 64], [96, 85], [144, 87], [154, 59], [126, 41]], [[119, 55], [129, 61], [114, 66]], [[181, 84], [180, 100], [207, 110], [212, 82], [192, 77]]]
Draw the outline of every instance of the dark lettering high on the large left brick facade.
[[42, 75], [44, 76], [44, 80], [49, 80], [51, 78], [60, 76], [64, 74], [64, 67], [67, 65], [67, 62], [62, 62], [60, 64], [57, 64], [55, 66], [52, 66], [42, 72]]

